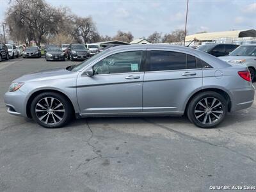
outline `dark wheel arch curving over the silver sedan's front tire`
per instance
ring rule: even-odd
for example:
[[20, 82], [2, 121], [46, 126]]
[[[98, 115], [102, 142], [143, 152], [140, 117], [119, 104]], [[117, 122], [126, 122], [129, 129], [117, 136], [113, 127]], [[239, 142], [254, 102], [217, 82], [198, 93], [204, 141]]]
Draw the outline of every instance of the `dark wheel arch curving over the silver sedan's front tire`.
[[75, 108], [74, 108], [74, 104], [72, 103], [72, 101], [70, 100], [70, 98], [63, 92], [60, 92], [58, 90], [52, 90], [52, 89], [46, 89], [46, 90], [37, 90], [36, 92], [32, 93], [26, 103], [26, 115], [28, 116], [28, 118], [31, 118], [31, 111], [30, 111], [30, 104], [32, 102], [33, 99], [35, 99], [35, 97], [37, 95], [39, 95], [40, 93], [45, 93], [45, 92], [54, 92], [54, 93], [59, 93], [61, 95], [63, 95], [68, 102], [70, 102], [71, 106], [72, 106], [72, 113], [73, 115], [75, 115]]

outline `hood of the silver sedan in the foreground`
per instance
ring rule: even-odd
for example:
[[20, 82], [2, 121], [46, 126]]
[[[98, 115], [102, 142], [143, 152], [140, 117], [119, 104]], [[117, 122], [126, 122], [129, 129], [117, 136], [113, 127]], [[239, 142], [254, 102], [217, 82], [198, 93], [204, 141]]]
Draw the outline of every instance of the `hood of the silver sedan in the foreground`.
[[53, 79], [67, 79], [77, 77], [77, 72], [66, 70], [66, 68], [54, 68], [50, 70], [42, 70], [33, 72], [15, 79], [15, 82], [28, 82], [28, 81], [45, 81]]

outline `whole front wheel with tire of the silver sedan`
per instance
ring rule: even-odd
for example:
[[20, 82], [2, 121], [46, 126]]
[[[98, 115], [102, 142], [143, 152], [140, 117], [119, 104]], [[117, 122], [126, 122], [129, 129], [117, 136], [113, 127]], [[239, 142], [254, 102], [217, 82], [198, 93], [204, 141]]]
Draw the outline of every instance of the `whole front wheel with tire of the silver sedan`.
[[32, 101], [31, 116], [45, 128], [63, 127], [72, 118], [72, 106], [63, 95], [45, 92]]

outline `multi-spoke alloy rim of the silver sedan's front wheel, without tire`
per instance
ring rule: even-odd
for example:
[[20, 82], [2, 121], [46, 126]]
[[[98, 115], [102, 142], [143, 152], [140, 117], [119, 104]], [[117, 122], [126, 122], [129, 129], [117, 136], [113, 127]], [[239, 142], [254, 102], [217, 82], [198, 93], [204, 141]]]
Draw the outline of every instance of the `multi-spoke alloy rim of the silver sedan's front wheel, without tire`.
[[63, 120], [65, 108], [60, 100], [54, 97], [45, 97], [37, 102], [35, 113], [42, 123], [55, 125]]

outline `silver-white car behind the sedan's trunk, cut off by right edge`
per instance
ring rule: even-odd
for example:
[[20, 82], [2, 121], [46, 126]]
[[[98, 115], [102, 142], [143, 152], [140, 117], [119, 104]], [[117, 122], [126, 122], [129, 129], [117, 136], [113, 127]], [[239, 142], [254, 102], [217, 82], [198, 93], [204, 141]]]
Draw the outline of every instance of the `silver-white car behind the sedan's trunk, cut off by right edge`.
[[252, 81], [256, 80], [256, 44], [240, 45], [228, 56], [220, 57], [220, 59], [248, 67]]

